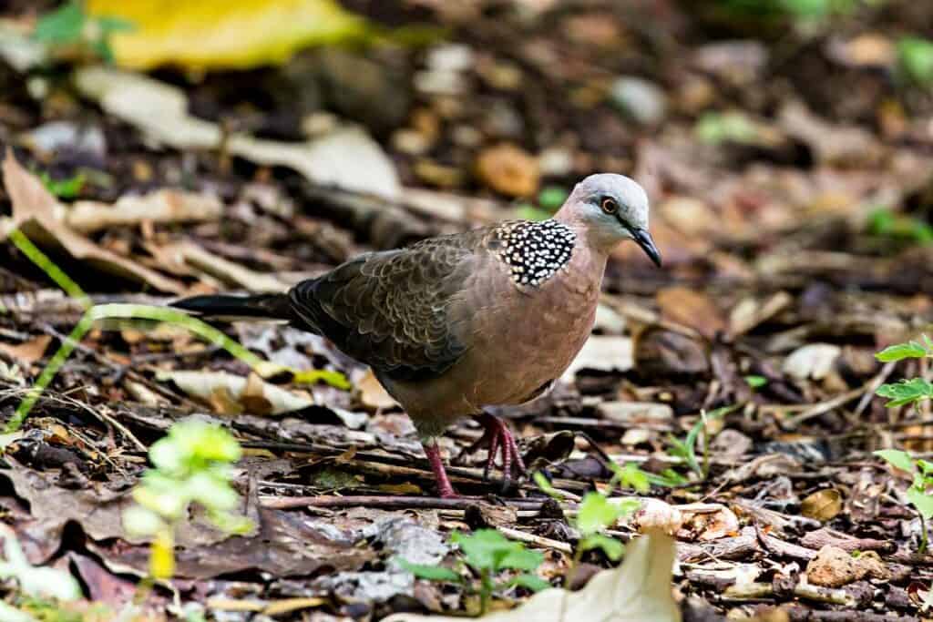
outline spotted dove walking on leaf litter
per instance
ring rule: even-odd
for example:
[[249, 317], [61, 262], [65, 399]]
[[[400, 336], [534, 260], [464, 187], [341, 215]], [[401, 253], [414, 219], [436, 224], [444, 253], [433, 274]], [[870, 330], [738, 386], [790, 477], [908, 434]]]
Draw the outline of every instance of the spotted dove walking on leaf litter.
[[356, 256], [285, 293], [206, 295], [200, 316], [287, 321], [370, 366], [411, 418], [443, 498], [454, 491], [438, 438], [472, 417], [486, 475], [525, 471], [515, 436], [487, 408], [519, 405], [561, 377], [595, 321], [606, 261], [627, 240], [661, 267], [648, 195], [616, 173], [581, 180], [548, 220], [508, 220]]

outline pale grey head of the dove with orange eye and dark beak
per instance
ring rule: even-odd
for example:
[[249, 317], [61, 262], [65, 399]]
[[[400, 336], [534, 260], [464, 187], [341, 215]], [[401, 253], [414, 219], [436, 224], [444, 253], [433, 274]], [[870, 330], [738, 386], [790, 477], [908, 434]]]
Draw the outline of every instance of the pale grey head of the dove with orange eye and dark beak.
[[661, 253], [648, 233], [648, 195], [625, 175], [590, 175], [574, 188], [556, 217], [574, 221], [601, 250], [634, 240], [661, 266]]

